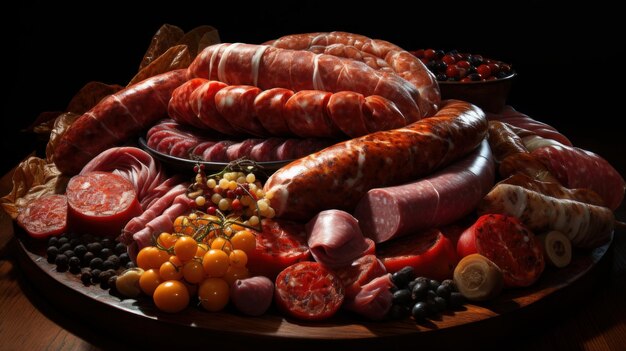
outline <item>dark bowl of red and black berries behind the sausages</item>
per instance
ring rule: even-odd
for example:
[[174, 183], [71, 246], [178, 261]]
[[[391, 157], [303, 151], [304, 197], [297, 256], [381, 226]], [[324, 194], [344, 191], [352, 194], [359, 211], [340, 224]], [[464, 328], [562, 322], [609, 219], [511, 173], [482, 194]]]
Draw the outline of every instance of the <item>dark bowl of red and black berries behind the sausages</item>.
[[457, 50], [411, 51], [435, 75], [442, 99], [471, 102], [488, 112], [506, 104], [516, 73], [510, 64]]

